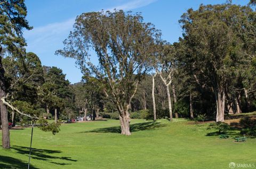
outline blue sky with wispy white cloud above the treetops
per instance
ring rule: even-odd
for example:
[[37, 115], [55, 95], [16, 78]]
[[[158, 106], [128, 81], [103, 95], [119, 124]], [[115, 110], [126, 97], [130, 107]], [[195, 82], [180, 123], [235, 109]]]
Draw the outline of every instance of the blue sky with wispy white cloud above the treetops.
[[[54, 55], [62, 49], [62, 41], [67, 38], [77, 15], [84, 12], [122, 9], [142, 12], [145, 22], [153, 23], [162, 30], [163, 39], [177, 42], [182, 35], [178, 23], [182, 13], [200, 4], [219, 4], [226, 0], [26, 0], [27, 20], [33, 30], [25, 31], [27, 52], [34, 52], [45, 66], [56, 66], [63, 70], [71, 83], [81, 81], [82, 74], [75, 60]], [[233, 0], [245, 5], [246, 0]]]

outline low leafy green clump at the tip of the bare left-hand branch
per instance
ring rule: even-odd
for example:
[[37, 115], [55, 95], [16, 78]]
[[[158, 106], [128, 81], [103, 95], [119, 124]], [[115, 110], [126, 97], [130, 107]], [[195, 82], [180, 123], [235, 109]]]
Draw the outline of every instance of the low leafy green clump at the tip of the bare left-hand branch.
[[53, 135], [59, 133], [60, 131], [60, 121], [58, 120], [57, 123], [52, 122], [49, 123], [46, 119], [39, 119], [37, 120], [37, 124], [40, 124], [38, 128], [40, 128], [44, 132], [52, 132]]

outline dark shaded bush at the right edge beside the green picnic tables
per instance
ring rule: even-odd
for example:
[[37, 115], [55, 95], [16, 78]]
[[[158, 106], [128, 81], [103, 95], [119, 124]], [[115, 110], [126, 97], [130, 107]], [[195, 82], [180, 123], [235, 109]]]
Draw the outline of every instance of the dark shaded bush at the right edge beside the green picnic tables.
[[243, 118], [240, 120], [240, 125], [243, 126], [241, 134], [256, 136], [256, 119]]

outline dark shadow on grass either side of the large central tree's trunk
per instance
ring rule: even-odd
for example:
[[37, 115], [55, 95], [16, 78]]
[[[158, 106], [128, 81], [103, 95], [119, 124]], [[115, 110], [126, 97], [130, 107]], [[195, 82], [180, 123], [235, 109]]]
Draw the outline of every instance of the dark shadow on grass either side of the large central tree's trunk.
[[[143, 130], [155, 130], [156, 128], [161, 128], [166, 126], [166, 124], [160, 124], [159, 122], [146, 122], [146, 123], [137, 123], [131, 124], [131, 132], [138, 132]], [[79, 133], [121, 133], [120, 126], [106, 127], [106, 128], [96, 128], [91, 131], [79, 132]]]

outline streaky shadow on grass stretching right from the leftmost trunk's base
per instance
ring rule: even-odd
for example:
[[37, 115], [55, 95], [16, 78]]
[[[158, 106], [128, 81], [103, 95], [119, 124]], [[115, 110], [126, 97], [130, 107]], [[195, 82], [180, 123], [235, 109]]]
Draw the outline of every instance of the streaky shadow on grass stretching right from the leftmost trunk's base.
[[[29, 147], [22, 147], [22, 146], [13, 146], [12, 149], [16, 150], [18, 154], [22, 155], [29, 155]], [[62, 151], [60, 150], [47, 150], [47, 149], [31, 149], [31, 158], [32, 159], [38, 159], [38, 160], [44, 160], [49, 163], [58, 164], [58, 165], [70, 165], [70, 163], [67, 162], [77, 162], [75, 159], [71, 159], [71, 157], [56, 157], [49, 154], [59, 154]], [[57, 163], [52, 162], [52, 159], [61, 159], [65, 160], [66, 163]]]

